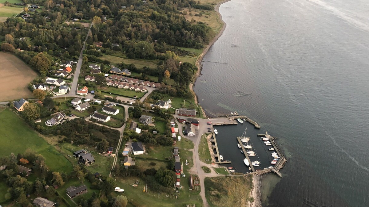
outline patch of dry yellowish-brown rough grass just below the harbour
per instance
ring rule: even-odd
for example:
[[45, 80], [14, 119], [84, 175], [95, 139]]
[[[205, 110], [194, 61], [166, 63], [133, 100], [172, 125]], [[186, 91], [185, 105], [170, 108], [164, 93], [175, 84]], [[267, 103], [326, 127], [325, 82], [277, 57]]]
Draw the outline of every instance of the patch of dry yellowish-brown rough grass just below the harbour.
[[[251, 176], [205, 178], [205, 195], [210, 206], [248, 206]], [[230, 205], [232, 204], [232, 205]]]

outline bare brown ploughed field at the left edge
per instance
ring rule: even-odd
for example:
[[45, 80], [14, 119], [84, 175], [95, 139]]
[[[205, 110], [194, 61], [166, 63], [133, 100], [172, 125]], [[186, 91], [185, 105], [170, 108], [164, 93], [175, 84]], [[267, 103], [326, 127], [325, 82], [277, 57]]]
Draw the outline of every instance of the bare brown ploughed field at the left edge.
[[0, 101], [32, 97], [27, 84], [37, 77], [37, 73], [18, 57], [8, 53], [0, 53], [0, 65]]

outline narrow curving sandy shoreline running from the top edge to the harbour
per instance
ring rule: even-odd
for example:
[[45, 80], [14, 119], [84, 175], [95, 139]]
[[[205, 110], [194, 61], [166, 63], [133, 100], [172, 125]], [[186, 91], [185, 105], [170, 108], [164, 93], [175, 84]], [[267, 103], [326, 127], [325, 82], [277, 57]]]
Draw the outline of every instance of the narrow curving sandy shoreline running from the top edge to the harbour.
[[[219, 7], [220, 7], [220, 5], [222, 5], [222, 4], [224, 4], [224, 3], [226, 3], [226, 2], [228, 2], [228, 1], [231, 1], [231, 0], [224, 0], [224, 1], [221, 1], [221, 2], [219, 2], [218, 4], [217, 4], [217, 6], [215, 6], [215, 8], [214, 8], [214, 10], [215, 10], [215, 12], [218, 14], [218, 17], [219, 17], [219, 19], [220, 19], [220, 21], [222, 21], [223, 22], [223, 26], [222, 26], [222, 28], [220, 29], [220, 31], [218, 32], [218, 34], [217, 35], [215, 35], [215, 37], [213, 38], [213, 40], [206, 46], [206, 48], [203, 50], [203, 52], [197, 57], [197, 60], [196, 60], [196, 63], [195, 63], [195, 66], [198, 68], [198, 70], [197, 70], [197, 72], [196, 72], [196, 74], [195, 74], [195, 76], [194, 76], [194, 79], [193, 79], [193, 82], [190, 84], [190, 91], [192, 91], [193, 92], [193, 94], [194, 94], [194, 99], [195, 99], [195, 103], [197, 104], [197, 105], [199, 105], [199, 100], [198, 100], [198, 98], [197, 98], [197, 95], [196, 95], [196, 93], [195, 93], [195, 91], [193, 90], [193, 86], [194, 86], [194, 84], [195, 84], [195, 82], [196, 82], [196, 79], [200, 76], [200, 74], [201, 74], [201, 70], [202, 70], [202, 65], [201, 65], [201, 62], [203, 61], [203, 58], [204, 58], [204, 55], [208, 52], [208, 50], [210, 49], [210, 47], [219, 39], [219, 37], [221, 36], [221, 35], [223, 35], [223, 32], [224, 32], [224, 30], [225, 30], [225, 27], [227, 26], [227, 24], [225, 24], [225, 22], [223, 21], [223, 19], [222, 19], [222, 15], [220, 14], [220, 12], [219, 12]], [[199, 105], [200, 106], [200, 105]], [[203, 107], [202, 106], [200, 106], [200, 109], [201, 109], [201, 111], [203, 112], [203, 115], [204, 115], [204, 117], [207, 117], [206, 116], [206, 113], [205, 113], [205, 111], [204, 111], [204, 109], [203, 109]]]

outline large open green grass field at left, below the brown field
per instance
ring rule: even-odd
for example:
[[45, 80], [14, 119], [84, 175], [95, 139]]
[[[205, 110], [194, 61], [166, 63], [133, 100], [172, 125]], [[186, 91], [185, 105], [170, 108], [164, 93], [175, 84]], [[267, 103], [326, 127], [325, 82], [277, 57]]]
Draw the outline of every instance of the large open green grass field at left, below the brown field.
[[28, 127], [10, 109], [4, 109], [0, 112], [0, 156], [15, 155], [23, 153], [27, 148], [45, 157], [46, 165], [52, 171], [71, 172], [72, 164], [63, 157], [56, 149], [48, 144], [43, 138], [39, 137], [35, 131]]

